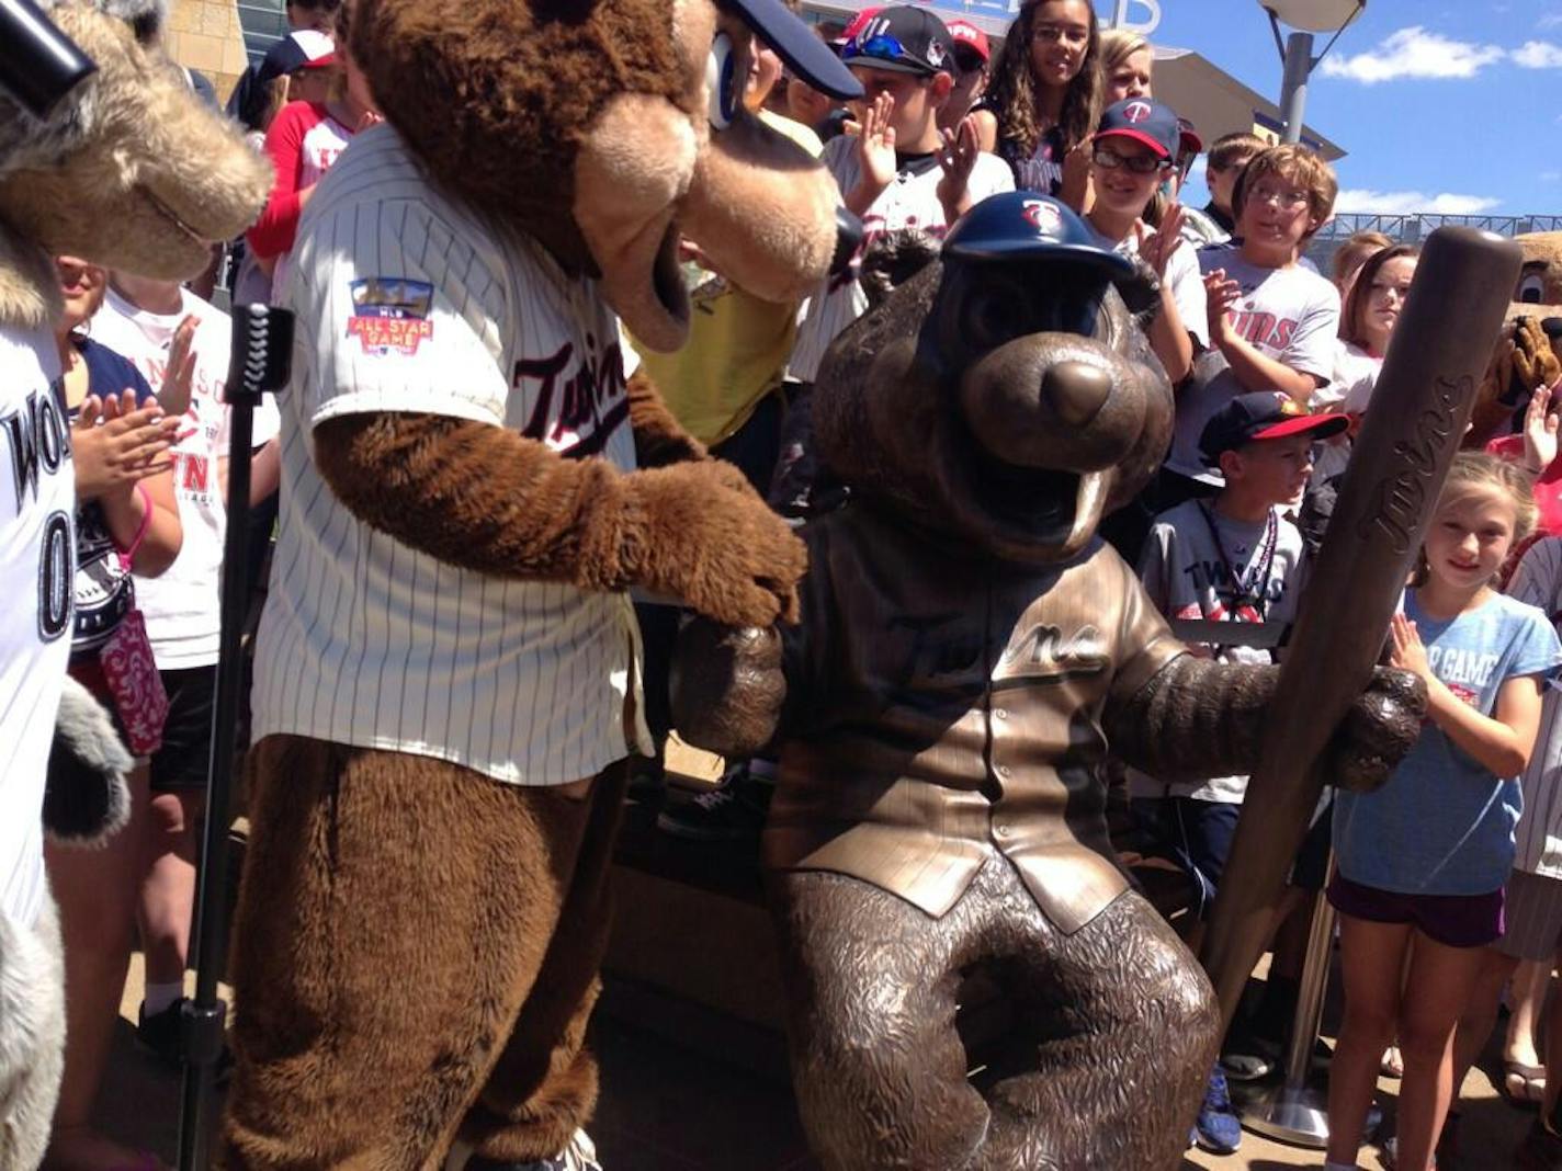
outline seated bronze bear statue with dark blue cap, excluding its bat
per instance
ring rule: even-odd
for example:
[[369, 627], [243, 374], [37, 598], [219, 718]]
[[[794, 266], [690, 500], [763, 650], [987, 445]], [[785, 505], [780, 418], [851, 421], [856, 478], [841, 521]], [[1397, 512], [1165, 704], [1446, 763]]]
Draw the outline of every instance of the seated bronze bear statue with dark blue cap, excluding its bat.
[[[686, 739], [779, 735], [762, 857], [829, 1171], [1154, 1171], [1187, 1143], [1220, 1013], [1117, 862], [1100, 767], [1251, 771], [1278, 668], [1190, 656], [1097, 536], [1170, 436], [1128, 308], [1154, 301], [1065, 205], [973, 208], [820, 368], [851, 500], [803, 529], [801, 623], [679, 637]], [[1423, 704], [1381, 670], [1329, 776], [1381, 784]], [[981, 1080], [954, 1027], [975, 963], [1020, 1023]]]

